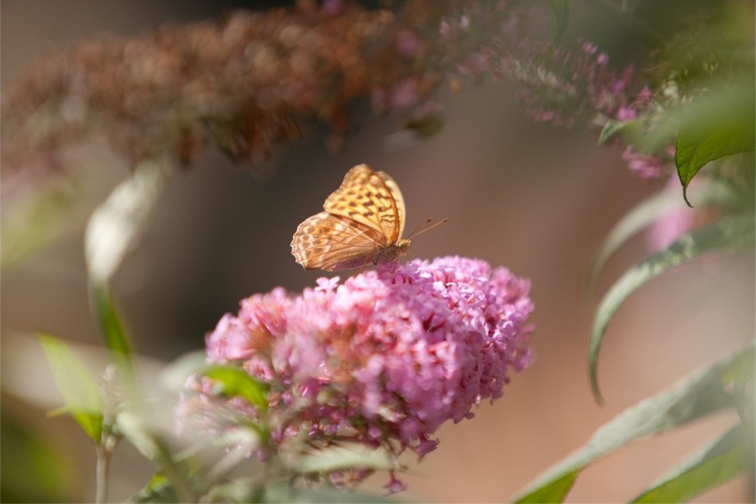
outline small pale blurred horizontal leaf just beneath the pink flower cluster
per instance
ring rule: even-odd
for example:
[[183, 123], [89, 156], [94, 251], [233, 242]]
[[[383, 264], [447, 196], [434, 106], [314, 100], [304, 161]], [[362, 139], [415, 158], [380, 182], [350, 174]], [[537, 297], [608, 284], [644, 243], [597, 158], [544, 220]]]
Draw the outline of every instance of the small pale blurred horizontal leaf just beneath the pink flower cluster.
[[366, 469], [395, 469], [391, 456], [383, 450], [368, 450], [364, 446], [332, 446], [303, 457], [297, 471], [314, 473], [362, 467]]

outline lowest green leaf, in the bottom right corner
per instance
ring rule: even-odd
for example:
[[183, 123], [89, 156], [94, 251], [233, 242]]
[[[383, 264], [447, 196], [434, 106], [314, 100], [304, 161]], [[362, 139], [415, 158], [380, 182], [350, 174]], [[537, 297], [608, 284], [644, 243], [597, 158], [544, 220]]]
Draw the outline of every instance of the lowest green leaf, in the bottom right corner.
[[734, 427], [713, 444], [689, 457], [631, 502], [685, 502], [729, 481], [748, 468], [745, 443], [742, 427]]

